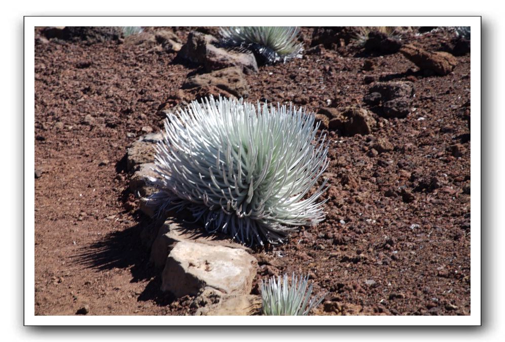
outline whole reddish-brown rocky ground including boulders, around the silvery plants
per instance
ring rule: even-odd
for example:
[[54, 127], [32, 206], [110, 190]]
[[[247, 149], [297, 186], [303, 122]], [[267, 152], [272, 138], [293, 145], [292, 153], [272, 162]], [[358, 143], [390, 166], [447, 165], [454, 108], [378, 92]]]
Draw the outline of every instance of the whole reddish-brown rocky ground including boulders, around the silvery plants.
[[[470, 314], [470, 51], [430, 29], [302, 28], [302, 58], [262, 65], [217, 47], [215, 27], [37, 28], [35, 314], [212, 314], [220, 300], [227, 312], [292, 272], [326, 293], [317, 315]], [[167, 277], [201, 260], [169, 223], [181, 215], [162, 225], [139, 209], [142, 167], [165, 112], [208, 94], [316, 113], [331, 138], [328, 214], [278, 247], [200, 237], [202, 253], [247, 260], [233, 266], [243, 283], [173, 293]]]

